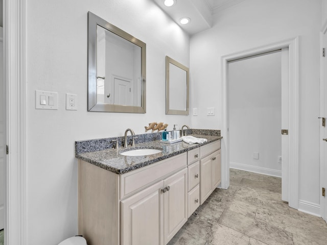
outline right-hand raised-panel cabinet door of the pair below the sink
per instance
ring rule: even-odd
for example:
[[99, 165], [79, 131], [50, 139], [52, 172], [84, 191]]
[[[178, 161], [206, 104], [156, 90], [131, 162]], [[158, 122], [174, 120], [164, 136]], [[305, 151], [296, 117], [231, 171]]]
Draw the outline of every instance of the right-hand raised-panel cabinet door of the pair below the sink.
[[164, 244], [167, 244], [188, 220], [187, 168], [165, 179], [164, 187], [167, 188], [164, 192]]

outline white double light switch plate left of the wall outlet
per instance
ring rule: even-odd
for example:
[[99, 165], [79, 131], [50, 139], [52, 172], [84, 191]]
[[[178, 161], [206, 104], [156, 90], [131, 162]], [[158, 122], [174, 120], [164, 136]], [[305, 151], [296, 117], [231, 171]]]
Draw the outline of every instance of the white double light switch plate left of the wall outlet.
[[35, 109], [58, 110], [58, 93], [35, 90]]

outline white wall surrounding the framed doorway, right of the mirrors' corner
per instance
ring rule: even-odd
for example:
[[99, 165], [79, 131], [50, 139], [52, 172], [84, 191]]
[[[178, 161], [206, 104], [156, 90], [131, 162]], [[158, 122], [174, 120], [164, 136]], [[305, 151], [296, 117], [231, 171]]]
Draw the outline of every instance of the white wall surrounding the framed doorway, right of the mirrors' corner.
[[221, 57], [299, 36], [299, 199], [318, 206], [320, 28], [321, 1], [247, 0], [214, 15], [213, 28], [192, 36], [190, 48], [190, 106], [199, 113], [192, 127], [220, 129]]

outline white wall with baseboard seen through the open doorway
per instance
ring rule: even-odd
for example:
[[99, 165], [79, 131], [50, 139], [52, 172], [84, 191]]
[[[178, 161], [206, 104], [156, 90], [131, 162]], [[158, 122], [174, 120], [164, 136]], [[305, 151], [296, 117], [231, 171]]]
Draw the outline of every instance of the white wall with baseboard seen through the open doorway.
[[281, 52], [228, 64], [231, 167], [282, 176], [281, 76]]

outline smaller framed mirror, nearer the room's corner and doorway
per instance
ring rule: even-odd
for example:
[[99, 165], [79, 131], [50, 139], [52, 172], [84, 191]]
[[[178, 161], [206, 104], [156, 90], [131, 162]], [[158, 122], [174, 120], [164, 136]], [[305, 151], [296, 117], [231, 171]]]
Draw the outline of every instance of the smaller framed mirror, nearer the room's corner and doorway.
[[189, 68], [166, 56], [166, 114], [189, 115]]

